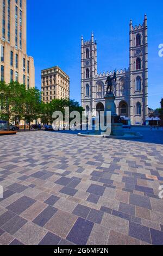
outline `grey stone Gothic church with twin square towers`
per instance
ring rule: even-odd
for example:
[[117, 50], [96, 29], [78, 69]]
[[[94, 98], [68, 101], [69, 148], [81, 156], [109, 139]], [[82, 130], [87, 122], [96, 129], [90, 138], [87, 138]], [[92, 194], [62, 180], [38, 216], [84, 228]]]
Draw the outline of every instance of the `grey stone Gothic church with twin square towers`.
[[[86, 113], [104, 111], [105, 81], [114, 71], [97, 73], [97, 44], [93, 33], [81, 46], [81, 99]], [[147, 16], [142, 25], [130, 21], [129, 68], [117, 70], [114, 85], [116, 112], [131, 125], [142, 125], [148, 117], [148, 36]]]

